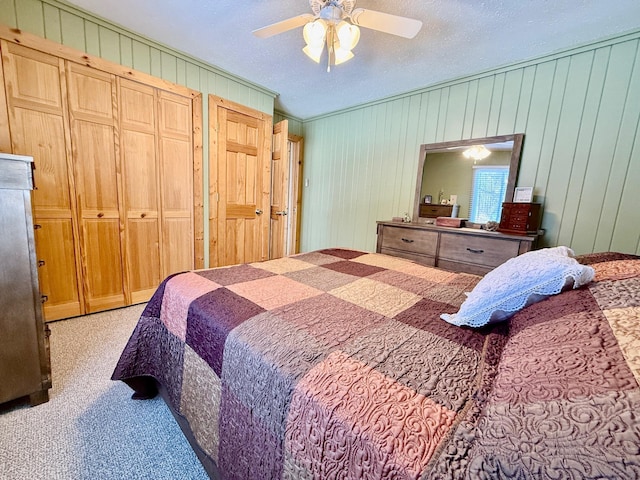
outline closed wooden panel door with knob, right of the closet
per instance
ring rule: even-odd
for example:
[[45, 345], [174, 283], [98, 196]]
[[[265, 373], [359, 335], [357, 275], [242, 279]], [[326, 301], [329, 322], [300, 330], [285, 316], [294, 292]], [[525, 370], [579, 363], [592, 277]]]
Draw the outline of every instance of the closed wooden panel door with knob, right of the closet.
[[272, 117], [209, 96], [209, 265], [269, 257]]

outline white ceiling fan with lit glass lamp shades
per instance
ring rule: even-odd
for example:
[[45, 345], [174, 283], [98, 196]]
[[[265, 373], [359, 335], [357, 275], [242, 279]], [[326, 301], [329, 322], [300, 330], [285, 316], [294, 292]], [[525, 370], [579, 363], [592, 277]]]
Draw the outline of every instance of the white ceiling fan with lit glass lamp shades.
[[327, 71], [353, 58], [351, 50], [360, 39], [358, 27], [413, 38], [422, 28], [422, 22], [413, 18], [355, 8], [356, 0], [309, 0], [313, 11], [303, 13], [253, 31], [260, 38], [268, 38], [304, 25], [306, 46], [302, 51], [316, 63], [327, 45], [329, 54]]

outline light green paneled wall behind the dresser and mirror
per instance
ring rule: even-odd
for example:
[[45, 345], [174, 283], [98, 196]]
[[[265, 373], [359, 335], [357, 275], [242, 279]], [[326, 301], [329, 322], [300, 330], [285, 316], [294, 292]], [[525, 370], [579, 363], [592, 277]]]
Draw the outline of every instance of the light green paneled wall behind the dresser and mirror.
[[305, 120], [302, 250], [373, 251], [423, 143], [524, 133], [543, 246], [640, 254], [640, 31]]

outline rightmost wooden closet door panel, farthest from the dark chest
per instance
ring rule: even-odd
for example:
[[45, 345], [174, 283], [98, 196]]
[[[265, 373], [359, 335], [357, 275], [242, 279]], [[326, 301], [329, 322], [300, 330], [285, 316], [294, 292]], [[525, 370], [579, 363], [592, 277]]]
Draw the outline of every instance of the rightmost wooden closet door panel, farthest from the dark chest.
[[194, 266], [191, 100], [159, 92], [162, 276]]

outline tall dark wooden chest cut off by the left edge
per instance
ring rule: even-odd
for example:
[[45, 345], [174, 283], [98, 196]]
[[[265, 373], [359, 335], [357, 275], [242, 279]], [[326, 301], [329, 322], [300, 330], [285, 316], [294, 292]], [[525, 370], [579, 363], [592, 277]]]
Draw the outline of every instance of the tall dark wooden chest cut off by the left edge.
[[42, 317], [31, 210], [33, 159], [0, 153], [0, 403], [49, 400], [49, 329]]

